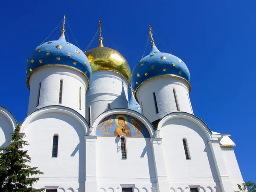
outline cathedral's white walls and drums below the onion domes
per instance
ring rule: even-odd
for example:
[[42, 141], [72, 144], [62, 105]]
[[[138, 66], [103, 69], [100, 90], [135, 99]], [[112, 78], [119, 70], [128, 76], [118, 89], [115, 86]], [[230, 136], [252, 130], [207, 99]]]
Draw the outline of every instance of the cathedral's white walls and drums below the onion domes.
[[[63, 100], [59, 104], [61, 79]], [[32, 159], [30, 165], [44, 172], [34, 184], [37, 189], [122, 192], [132, 188], [133, 192], [189, 192], [197, 188], [198, 192], [233, 192], [237, 190], [237, 183], [243, 183], [230, 135], [212, 132], [194, 116], [189, 84], [182, 79], [159, 77], [142, 84], [136, 97], [143, 114], [128, 109], [128, 83], [115, 72], [93, 72], [86, 96], [88, 82], [84, 76], [64, 67], [35, 71], [29, 84], [28, 116], [21, 132], [29, 143], [26, 149]], [[91, 107], [91, 125], [85, 105], [87, 109]], [[151, 123], [158, 119], [154, 128]], [[1, 147], [10, 143], [15, 125], [12, 113], [0, 107]], [[124, 134], [121, 137], [116, 135], [120, 130]], [[52, 153], [54, 136], [58, 137], [56, 157]], [[122, 138], [125, 145], [121, 144]]]

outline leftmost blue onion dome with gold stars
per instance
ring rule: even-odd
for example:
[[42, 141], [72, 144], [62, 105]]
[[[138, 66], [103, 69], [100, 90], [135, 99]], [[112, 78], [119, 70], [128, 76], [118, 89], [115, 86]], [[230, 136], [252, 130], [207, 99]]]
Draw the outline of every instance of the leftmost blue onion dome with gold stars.
[[[67, 67], [82, 73], [90, 87], [91, 66], [84, 52], [66, 41], [64, 29], [57, 41], [49, 41], [34, 49], [26, 63], [26, 84], [29, 88], [29, 78], [33, 72], [43, 67]], [[29, 88], [30, 90], [30, 88]]]

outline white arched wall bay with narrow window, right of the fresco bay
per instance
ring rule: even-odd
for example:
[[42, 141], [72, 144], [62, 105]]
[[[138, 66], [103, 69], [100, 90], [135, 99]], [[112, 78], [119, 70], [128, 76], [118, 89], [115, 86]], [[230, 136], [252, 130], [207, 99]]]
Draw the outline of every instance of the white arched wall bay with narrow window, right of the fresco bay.
[[[163, 153], [170, 188], [185, 190], [188, 186], [201, 186], [204, 190], [220, 189], [212, 152], [205, 133], [186, 119], [171, 119], [160, 128]], [[187, 160], [183, 146], [187, 140], [191, 159]]]

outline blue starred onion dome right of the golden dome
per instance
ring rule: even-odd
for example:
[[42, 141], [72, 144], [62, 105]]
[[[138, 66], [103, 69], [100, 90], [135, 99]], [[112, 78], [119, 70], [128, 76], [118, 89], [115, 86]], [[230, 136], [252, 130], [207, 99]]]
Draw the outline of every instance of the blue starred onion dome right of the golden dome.
[[131, 73], [131, 86], [135, 93], [145, 81], [159, 76], [174, 76], [187, 81], [189, 84], [190, 73], [186, 64], [170, 53], [160, 52], [154, 44], [151, 29], [151, 52], [136, 64]]

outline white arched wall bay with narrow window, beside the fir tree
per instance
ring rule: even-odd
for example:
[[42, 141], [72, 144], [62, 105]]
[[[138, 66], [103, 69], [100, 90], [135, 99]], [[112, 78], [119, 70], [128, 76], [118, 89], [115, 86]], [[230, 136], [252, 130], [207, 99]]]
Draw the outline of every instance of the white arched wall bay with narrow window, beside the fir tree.
[[[29, 121], [29, 122], [28, 122]], [[85, 127], [74, 115], [45, 112], [28, 117], [23, 123], [26, 147], [44, 175], [34, 184], [36, 189], [56, 186], [61, 190], [84, 191], [85, 185]], [[58, 157], [52, 157], [53, 136], [58, 135]]]

